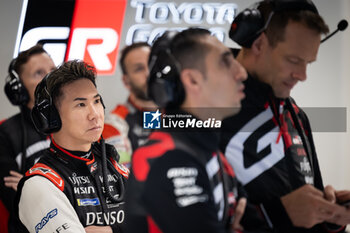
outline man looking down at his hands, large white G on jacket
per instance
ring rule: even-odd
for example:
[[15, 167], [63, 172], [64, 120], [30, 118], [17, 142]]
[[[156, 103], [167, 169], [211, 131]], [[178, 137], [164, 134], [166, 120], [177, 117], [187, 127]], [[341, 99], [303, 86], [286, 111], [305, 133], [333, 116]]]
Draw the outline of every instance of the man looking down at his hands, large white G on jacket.
[[224, 121], [221, 149], [249, 200], [276, 232], [338, 232], [350, 210], [338, 205], [348, 191], [323, 186], [305, 113], [290, 98], [316, 60], [328, 26], [311, 0], [263, 1], [232, 23], [230, 37], [243, 48], [246, 99]]

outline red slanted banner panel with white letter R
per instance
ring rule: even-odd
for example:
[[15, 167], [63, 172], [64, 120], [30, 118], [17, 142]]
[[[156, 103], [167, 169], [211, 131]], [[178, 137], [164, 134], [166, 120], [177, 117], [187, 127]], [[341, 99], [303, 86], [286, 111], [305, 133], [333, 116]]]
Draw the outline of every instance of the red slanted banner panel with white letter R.
[[81, 59], [97, 74], [115, 72], [126, 0], [77, 0], [65, 60]]

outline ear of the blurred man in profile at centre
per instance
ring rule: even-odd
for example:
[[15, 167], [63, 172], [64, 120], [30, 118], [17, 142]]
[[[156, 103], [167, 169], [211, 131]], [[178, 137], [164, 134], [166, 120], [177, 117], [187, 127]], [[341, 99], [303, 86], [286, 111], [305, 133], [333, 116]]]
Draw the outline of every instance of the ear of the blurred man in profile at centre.
[[204, 81], [203, 74], [196, 69], [184, 69], [181, 71], [181, 82], [186, 93], [197, 93], [201, 90]]

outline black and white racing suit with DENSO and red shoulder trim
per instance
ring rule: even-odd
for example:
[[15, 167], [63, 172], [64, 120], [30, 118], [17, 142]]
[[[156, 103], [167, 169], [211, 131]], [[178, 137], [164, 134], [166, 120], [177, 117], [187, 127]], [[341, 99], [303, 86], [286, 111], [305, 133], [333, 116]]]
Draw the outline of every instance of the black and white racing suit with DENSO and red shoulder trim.
[[[106, 144], [108, 189], [123, 195], [128, 170], [118, 164], [118, 155]], [[18, 185], [18, 217], [29, 232], [85, 232], [90, 225], [111, 226], [123, 232], [124, 200], [114, 203], [103, 185], [101, 146], [91, 151], [71, 152], [53, 140], [41, 159]]]

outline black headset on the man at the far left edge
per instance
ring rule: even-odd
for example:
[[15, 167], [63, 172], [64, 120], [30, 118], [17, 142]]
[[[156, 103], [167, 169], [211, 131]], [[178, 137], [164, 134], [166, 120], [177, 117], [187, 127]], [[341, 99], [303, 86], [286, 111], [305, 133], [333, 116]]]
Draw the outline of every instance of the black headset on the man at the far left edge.
[[16, 59], [13, 59], [9, 65], [9, 75], [5, 80], [5, 93], [11, 104], [16, 106], [25, 106], [29, 102], [28, 90], [23, 85], [19, 75], [15, 71]]

